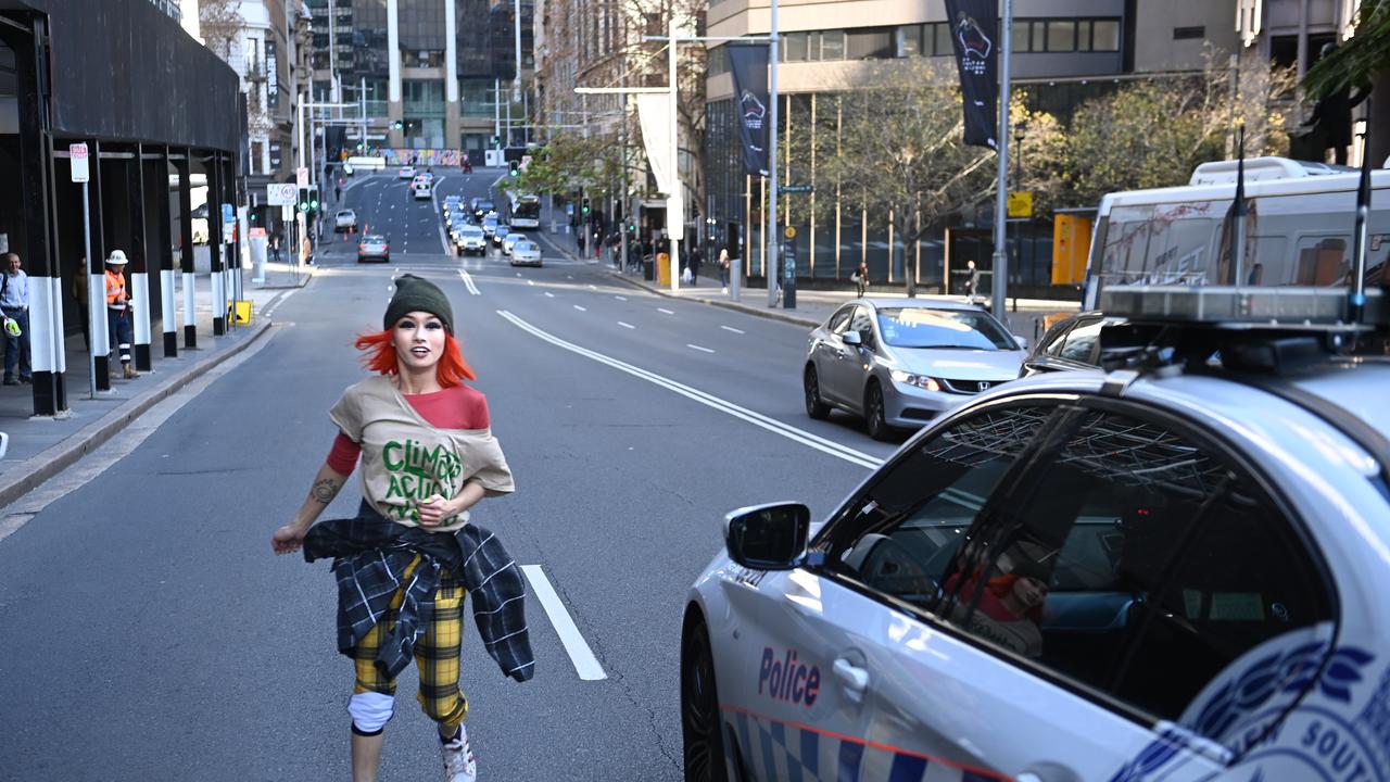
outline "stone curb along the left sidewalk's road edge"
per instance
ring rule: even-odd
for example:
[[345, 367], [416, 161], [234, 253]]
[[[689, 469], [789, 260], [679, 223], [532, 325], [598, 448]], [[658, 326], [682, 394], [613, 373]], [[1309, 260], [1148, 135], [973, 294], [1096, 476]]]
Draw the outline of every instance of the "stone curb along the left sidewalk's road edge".
[[40, 451], [39, 454], [29, 456], [24, 462], [11, 468], [10, 472], [15, 473], [17, 477], [0, 479], [0, 508], [11, 505], [25, 494], [40, 487], [49, 479], [57, 476], [64, 469], [76, 463], [82, 456], [86, 456], [89, 452], [115, 437], [115, 434], [145, 415], [154, 405], [170, 398], [193, 380], [206, 374], [210, 369], [245, 351], [247, 346], [254, 344], [256, 340], [260, 340], [261, 335], [270, 330], [270, 321], [261, 321], [260, 326], [253, 327], [256, 328], [254, 334], [240, 340], [236, 345], [203, 359], [185, 370], [182, 374], [174, 376], [174, 378], [164, 385], [152, 388], [150, 391], [132, 398], [120, 409], [111, 410], [103, 419], [82, 427], [63, 442], [50, 445], [47, 449]]

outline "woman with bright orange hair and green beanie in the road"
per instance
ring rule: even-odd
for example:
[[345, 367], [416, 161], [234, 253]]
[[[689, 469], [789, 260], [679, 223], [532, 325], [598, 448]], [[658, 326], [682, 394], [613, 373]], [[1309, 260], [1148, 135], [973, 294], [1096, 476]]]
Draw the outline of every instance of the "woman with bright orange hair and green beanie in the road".
[[[453, 337], [453, 310], [434, 282], [403, 274], [382, 331], [357, 337], [377, 374], [349, 387], [328, 416], [338, 438], [293, 520], [271, 548], [334, 558], [338, 651], [353, 660], [354, 782], [374, 782], [382, 729], [395, 712], [396, 676], [420, 673], [420, 704], [435, 722], [448, 782], [474, 782], [459, 686], [463, 598], [503, 675], [531, 679], [521, 573], [496, 536], [470, 523], [470, 508], [514, 490], [489, 429], [488, 402], [463, 384], [473, 369]], [[357, 461], [357, 516], [314, 525]], [[313, 529], [310, 529], [313, 526]]]

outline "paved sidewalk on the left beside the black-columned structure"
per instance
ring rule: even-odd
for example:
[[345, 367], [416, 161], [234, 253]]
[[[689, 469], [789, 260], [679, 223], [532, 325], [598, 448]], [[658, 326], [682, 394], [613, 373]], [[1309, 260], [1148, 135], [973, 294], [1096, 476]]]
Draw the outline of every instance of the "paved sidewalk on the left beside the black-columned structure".
[[[113, 378], [110, 391], [90, 392], [90, 363], [79, 330], [64, 341], [67, 352], [68, 409], [58, 416], [35, 416], [33, 392], [28, 385], [0, 388], [0, 431], [10, 436], [10, 448], [0, 459], [0, 506], [8, 505], [43, 481], [58, 474], [83, 455], [125, 429], [143, 412], [188, 385], [207, 370], [246, 349], [264, 335], [270, 320], [260, 312], [288, 289], [304, 287], [313, 267], [302, 267], [295, 278], [289, 264], [267, 264], [265, 281], [253, 282], [252, 270], [243, 269], [242, 295], [252, 302], [252, 323], [229, 327], [213, 337], [211, 278], [199, 276], [196, 284], [197, 348], [183, 346], [179, 328], [177, 358], [164, 358], [164, 335], [154, 323], [150, 338], [152, 372], [135, 380]], [[175, 276], [175, 302], [182, 310], [182, 280]], [[81, 327], [78, 327], [81, 328]], [[113, 360], [120, 369], [120, 363]]]

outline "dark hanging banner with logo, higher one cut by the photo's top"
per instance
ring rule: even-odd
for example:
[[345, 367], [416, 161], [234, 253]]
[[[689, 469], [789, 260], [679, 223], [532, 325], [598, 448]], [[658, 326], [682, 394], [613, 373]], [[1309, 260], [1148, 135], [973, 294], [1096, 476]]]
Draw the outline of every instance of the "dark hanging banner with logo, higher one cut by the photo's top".
[[960, 71], [960, 103], [965, 107], [965, 143], [998, 149], [995, 107], [999, 102], [998, 3], [994, 0], [945, 0]]

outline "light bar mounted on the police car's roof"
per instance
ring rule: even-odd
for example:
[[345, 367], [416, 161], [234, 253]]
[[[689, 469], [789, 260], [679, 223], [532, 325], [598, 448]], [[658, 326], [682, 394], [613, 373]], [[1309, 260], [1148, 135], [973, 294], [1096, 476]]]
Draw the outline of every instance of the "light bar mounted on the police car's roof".
[[1134, 323], [1226, 328], [1351, 331], [1390, 326], [1379, 289], [1366, 291], [1361, 323], [1348, 323], [1346, 288], [1108, 285], [1101, 292], [1101, 310]]

